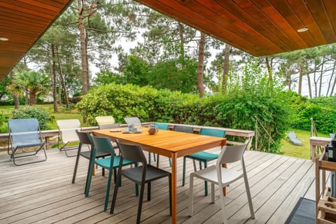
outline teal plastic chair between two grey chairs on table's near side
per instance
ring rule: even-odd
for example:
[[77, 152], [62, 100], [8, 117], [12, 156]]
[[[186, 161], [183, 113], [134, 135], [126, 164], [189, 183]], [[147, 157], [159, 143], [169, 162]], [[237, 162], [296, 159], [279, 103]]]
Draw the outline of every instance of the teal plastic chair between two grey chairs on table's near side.
[[[105, 204], [104, 204], [104, 211], [107, 210], [108, 204], [109, 204], [109, 195], [110, 195], [110, 189], [111, 189], [111, 179], [112, 179], [112, 172], [116, 172], [116, 169], [119, 167], [120, 162], [120, 156], [115, 155], [114, 148], [111, 144], [111, 141], [107, 137], [94, 137], [92, 134], [90, 134], [90, 137], [92, 139], [93, 143], [93, 155], [90, 157], [90, 169], [89, 174], [87, 175], [87, 186], [85, 188], [85, 197], [89, 196], [90, 191], [90, 185], [91, 185], [91, 179], [92, 179], [92, 171], [94, 169], [94, 165], [98, 165], [100, 167], [103, 167], [105, 169], [109, 170], [109, 179], [107, 181], [107, 188], [106, 188], [106, 196], [105, 196]], [[111, 153], [111, 157], [109, 158], [103, 158], [103, 159], [96, 159], [97, 152], [106, 152]], [[123, 160], [122, 166], [127, 165], [134, 165], [137, 167], [137, 162], [131, 161], [131, 160]], [[121, 181], [121, 179], [120, 179]], [[119, 182], [120, 184], [120, 182]], [[136, 186], [136, 195], [139, 195], [138, 186]]]

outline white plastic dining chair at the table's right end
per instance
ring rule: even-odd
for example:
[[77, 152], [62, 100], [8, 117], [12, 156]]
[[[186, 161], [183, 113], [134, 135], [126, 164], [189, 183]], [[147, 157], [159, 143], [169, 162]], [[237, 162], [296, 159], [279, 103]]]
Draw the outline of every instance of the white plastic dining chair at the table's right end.
[[[221, 154], [218, 157], [216, 162], [216, 166], [213, 165], [211, 167], [207, 167], [205, 169], [201, 169], [200, 171], [193, 172], [190, 174], [190, 188], [189, 188], [189, 196], [190, 196], [190, 205], [189, 205], [189, 214], [193, 216], [193, 185], [194, 185], [194, 177], [198, 179], [202, 179], [204, 181], [208, 181], [211, 183], [211, 202], [215, 202], [215, 187], [214, 185], [218, 185], [218, 189], [223, 189], [225, 186], [229, 186], [230, 183], [237, 181], [238, 179], [244, 178], [246, 195], [248, 200], [248, 206], [250, 208], [251, 218], [254, 219], [254, 211], [253, 204], [251, 199], [250, 188], [248, 187], [248, 179], [246, 175], [246, 169], [244, 164], [244, 151], [246, 150], [246, 146], [248, 145], [248, 141], [245, 141], [244, 145], [241, 146], [223, 146]], [[228, 164], [231, 162], [241, 161], [242, 171], [236, 171], [233, 169], [228, 169], [222, 167], [222, 164]], [[228, 218], [225, 212], [225, 200], [223, 190], [218, 190], [220, 195], [220, 202], [222, 208], [222, 222], [227, 224]]]

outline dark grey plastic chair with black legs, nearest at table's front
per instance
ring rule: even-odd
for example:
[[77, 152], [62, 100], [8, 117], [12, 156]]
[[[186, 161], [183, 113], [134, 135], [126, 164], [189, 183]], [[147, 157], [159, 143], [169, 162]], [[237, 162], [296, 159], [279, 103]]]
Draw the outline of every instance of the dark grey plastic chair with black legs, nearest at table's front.
[[[121, 151], [120, 165], [118, 168], [118, 180], [121, 176], [125, 176], [127, 179], [134, 181], [139, 184], [140, 196], [139, 196], [139, 207], [137, 214], [137, 223], [141, 220], [141, 209], [142, 202], [144, 198], [145, 184], [147, 183], [147, 200], [151, 200], [151, 182], [168, 177], [169, 179], [169, 205], [170, 205], [170, 215], [172, 215], [172, 174], [159, 169], [158, 167], [153, 167], [147, 164], [144, 152], [141, 146], [138, 145], [128, 145], [120, 143], [119, 139], [116, 140], [119, 149]], [[123, 160], [132, 160], [135, 162], [141, 162], [140, 167], [134, 167], [130, 169], [123, 169]], [[111, 214], [113, 214], [114, 208], [116, 207], [116, 199], [118, 193], [118, 181], [116, 181], [116, 186], [114, 188], [113, 200], [111, 205]]]

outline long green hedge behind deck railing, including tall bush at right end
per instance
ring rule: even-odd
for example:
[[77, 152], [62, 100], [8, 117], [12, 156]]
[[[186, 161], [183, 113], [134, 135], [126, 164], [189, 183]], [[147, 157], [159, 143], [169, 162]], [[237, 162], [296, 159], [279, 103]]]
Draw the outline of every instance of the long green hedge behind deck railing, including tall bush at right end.
[[[259, 148], [268, 150], [270, 147], [272, 152], [279, 153], [280, 140], [290, 120], [288, 93], [281, 92], [280, 88], [274, 90], [262, 80], [258, 82], [254, 83], [256, 87], [245, 83], [244, 88], [232, 90], [228, 95], [216, 94], [202, 99], [197, 94], [111, 83], [90, 90], [76, 108], [91, 125], [95, 124], [96, 116], [113, 116], [117, 123], [124, 123], [124, 117], [137, 116], [142, 121], [254, 130], [254, 118], [258, 116], [274, 141], [268, 146], [269, 137], [260, 128]], [[262, 92], [257, 91], [260, 89]]]

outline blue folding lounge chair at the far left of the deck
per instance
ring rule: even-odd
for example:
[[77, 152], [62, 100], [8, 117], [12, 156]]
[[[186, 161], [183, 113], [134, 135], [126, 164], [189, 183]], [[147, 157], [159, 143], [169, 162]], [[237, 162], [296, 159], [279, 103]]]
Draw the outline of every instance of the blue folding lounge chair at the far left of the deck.
[[[8, 131], [8, 155], [13, 159], [15, 166], [47, 160], [47, 154], [44, 148], [45, 143], [42, 140], [38, 120], [36, 118], [10, 119], [8, 120]], [[26, 150], [24, 148], [26, 148]], [[36, 155], [41, 149], [44, 153], [42, 160], [30, 160], [29, 162], [20, 164], [15, 161], [15, 159], [18, 158]]]

